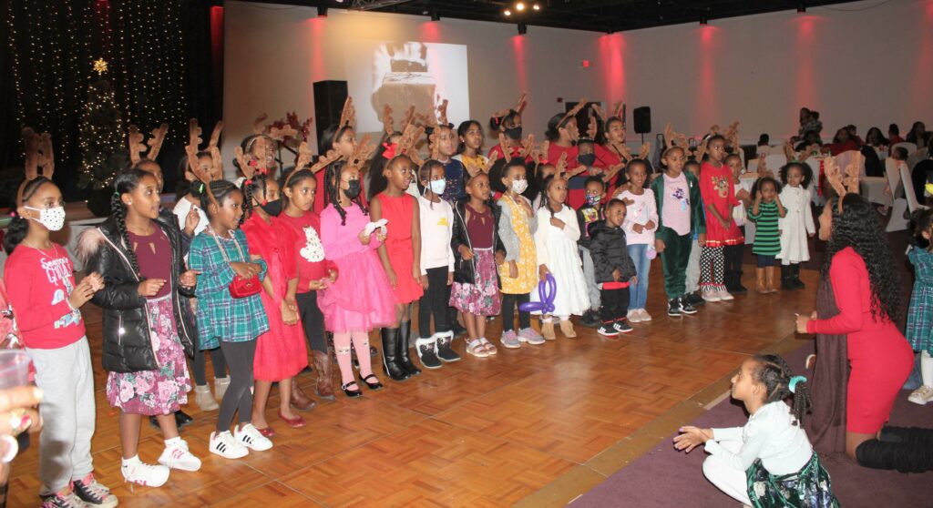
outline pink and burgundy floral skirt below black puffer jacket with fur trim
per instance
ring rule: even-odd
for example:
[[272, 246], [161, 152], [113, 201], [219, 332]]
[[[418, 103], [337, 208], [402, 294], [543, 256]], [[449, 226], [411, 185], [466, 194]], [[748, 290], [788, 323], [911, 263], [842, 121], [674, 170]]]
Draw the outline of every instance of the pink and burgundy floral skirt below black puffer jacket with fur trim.
[[146, 319], [159, 368], [111, 372], [107, 376], [107, 402], [133, 415], [168, 415], [188, 404], [191, 390], [185, 351], [174, 323], [172, 295], [146, 300]]

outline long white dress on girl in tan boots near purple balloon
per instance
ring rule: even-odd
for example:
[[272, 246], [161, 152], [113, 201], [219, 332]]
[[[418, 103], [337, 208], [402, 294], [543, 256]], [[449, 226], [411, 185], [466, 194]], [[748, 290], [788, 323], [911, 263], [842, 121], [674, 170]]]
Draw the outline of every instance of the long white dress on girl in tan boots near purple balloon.
[[[580, 238], [577, 213], [564, 205], [560, 212], [554, 214], [554, 217], [564, 221], [563, 229], [551, 226], [550, 211], [546, 208], [539, 208], [536, 216], [537, 264], [548, 267], [557, 287], [551, 314], [561, 317], [569, 317], [571, 314], [581, 316], [590, 309], [590, 295], [587, 293], [583, 264], [577, 249], [577, 240]], [[540, 301], [537, 293], [537, 288], [531, 292], [531, 301]]]

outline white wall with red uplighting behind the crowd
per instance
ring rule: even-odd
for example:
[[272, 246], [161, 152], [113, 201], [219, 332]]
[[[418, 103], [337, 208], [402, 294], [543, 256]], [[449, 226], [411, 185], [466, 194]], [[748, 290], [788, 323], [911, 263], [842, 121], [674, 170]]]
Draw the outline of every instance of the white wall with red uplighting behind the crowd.
[[[313, 117], [312, 83], [344, 79], [348, 38], [467, 45], [470, 115], [485, 124], [527, 89], [525, 129], [536, 134], [564, 110], [559, 97], [584, 95], [628, 103], [630, 131], [640, 105], [651, 106], [655, 131], [670, 121], [701, 133], [738, 119], [747, 141], [760, 132], [773, 139], [796, 133], [801, 106], [820, 112], [824, 138], [847, 123], [863, 135], [871, 126], [886, 132], [890, 122], [902, 133], [917, 119], [933, 127], [933, 0], [870, 0], [611, 35], [530, 26], [523, 37], [505, 23], [225, 6], [225, 158], [260, 112]], [[592, 67], [582, 69], [582, 60]]]

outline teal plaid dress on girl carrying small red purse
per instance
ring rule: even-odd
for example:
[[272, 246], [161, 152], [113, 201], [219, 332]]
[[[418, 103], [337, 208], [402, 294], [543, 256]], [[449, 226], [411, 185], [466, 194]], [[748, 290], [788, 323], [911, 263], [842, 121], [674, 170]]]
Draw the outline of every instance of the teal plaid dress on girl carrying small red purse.
[[[191, 240], [188, 252], [188, 268], [200, 270], [198, 275], [198, 344], [202, 350], [213, 350], [224, 342], [245, 342], [269, 331], [269, 320], [262, 308], [259, 295], [233, 298], [230, 282], [236, 276], [230, 261], [249, 262], [249, 246], [246, 235], [240, 229], [231, 231], [232, 238], [213, 237], [204, 231]], [[218, 246], [219, 242], [219, 246]], [[224, 253], [221, 253], [220, 247]], [[266, 263], [262, 266], [259, 279], [266, 277]]]

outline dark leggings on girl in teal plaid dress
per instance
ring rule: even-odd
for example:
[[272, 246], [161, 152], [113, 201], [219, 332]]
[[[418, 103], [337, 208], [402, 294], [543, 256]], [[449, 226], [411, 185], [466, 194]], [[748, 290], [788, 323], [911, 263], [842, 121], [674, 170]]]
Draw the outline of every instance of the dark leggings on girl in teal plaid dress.
[[227, 364], [230, 365], [230, 386], [220, 401], [217, 415], [217, 432], [230, 430], [233, 413], [239, 410], [238, 421], [249, 423], [253, 416], [253, 359], [256, 356], [256, 339], [245, 342], [220, 342]]

